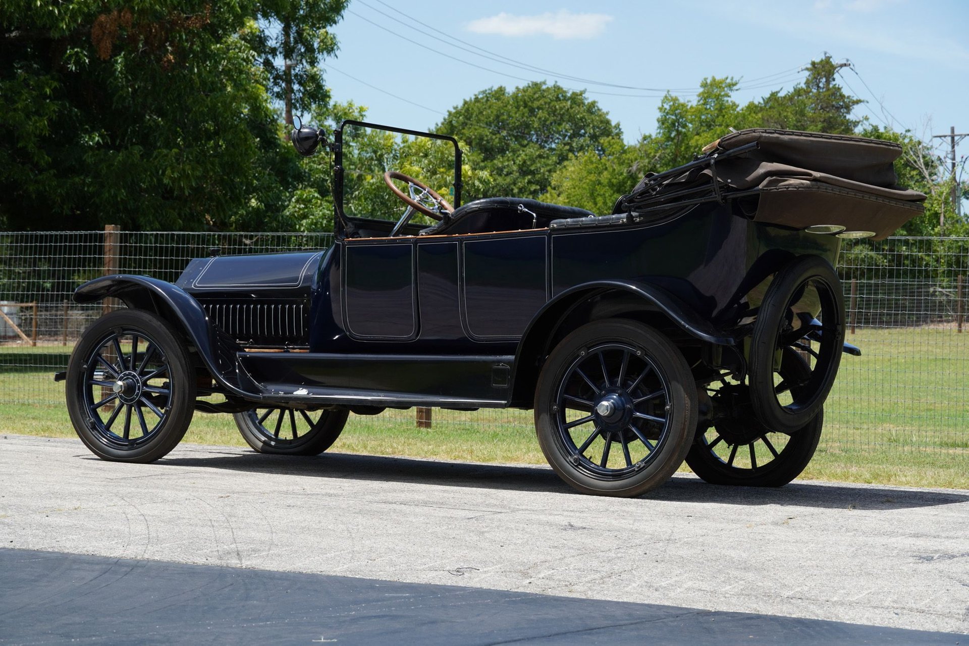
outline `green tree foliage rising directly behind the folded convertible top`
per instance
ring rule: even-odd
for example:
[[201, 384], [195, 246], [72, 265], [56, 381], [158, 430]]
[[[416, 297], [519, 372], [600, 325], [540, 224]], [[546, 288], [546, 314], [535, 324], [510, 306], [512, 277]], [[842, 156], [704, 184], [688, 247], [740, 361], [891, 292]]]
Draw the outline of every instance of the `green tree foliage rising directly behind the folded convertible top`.
[[[901, 235], [966, 234], [966, 219], [955, 218], [952, 178], [939, 165], [931, 147], [910, 132], [878, 128], [852, 111], [860, 103], [837, 82], [838, 64], [826, 55], [813, 61], [802, 83], [776, 90], [759, 101], [740, 106], [734, 99], [734, 78], [704, 78], [695, 100], [668, 94], [662, 101], [656, 132], [632, 145], [611, 140], [601, 152], [575, 155], [555, 170], [547, 199], [608, 212], [612, 200], [628, 192], [647, 171], [685, 164], [703, 146], [731, 130], [775, 128], [881, 138], [901, 144], [895, 163], [898, 184], [922, 191], [925, 214], [906, 224]], [[942, 217], [945, 214], [947, 217]], [[945, 227], [940, 226], [945, 222]]]

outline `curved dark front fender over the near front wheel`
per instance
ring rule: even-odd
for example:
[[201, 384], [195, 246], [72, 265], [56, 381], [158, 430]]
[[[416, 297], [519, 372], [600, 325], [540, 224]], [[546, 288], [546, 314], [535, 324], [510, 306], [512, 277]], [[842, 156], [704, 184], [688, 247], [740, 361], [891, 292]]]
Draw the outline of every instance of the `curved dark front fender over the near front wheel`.
[[77, 303], [119, 298], [131, 309], [154, 312], [180, 327], [195, 346], [212, 377], [235, 394], [252, 398], [252, 388], [239, 384], [244, 373], [235, 364], [234, 341], [220, 338], [205, 316], [202, 305], [181, 288], [157, 278], [112, 274], [84, 283], [74, 292]]

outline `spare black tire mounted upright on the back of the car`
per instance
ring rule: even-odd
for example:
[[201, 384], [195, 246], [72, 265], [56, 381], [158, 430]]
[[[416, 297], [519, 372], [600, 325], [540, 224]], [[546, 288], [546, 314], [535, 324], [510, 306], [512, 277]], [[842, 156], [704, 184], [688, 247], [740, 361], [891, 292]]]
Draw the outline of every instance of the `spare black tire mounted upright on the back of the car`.
[[[815, 365], [804, 387], [790, 403], [774, 392], [774, 355], [796, 343], [803, 328], [794, 330], [794, 308], [817, 297], [822, 327]], [[810, 317], [807, 317], [810, 319]], [[844, 346], [844, 294], [833, 267], [817, 256], [802, 256], [777, 272], [767, 288], [750, 347], [749, 384], [754, 413], [767, 428], [794, 433], [818, 415], [838, 373]], [[799, 321], [797, 323], [800, 323]]]

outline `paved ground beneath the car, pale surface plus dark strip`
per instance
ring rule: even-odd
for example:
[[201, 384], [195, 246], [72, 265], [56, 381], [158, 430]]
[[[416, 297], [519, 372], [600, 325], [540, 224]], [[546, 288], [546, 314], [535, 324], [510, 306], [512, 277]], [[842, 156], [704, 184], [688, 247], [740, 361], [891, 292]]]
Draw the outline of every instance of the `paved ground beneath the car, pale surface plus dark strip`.
[[[152, 599], [165, 597], [163, 581], [190, 590], [192, 576], [172, 568], [203, 564], [216, 567], [192, 571], [222, 572], [200, 574], [203, 581], [263, 581], [242, 586], [252, 593], [240, 605], [248, 614], [231, 615], [233, 625], [279, 628], [279, 621], [264, 621], [266, 608], [284, 607], [301, 643], [329, 638], [311, 636], [321, 624], [305, 618], [336, 616], [344, 628], [333, 638], [343, 642], [372, 643], [381, 634], [431, 642], [434, 626], [464, 622], [470, 630], [474, 624], [455, 608], [480, 619], [485, 601], [492, 610], [505, 608], [485, 612], [492, 622], [506, 618], [497, 628], [522, 628], [488, 641], [480, 627], [476, 643], [552, 639], [543, 630], [554, 626], [571, 628], [553, 641], [586, 631], [603, 641], [639, 635], [641, 642], [663, 634], [643, 627], [660, 625], [674, 627], [667, 634], [683, 641], [799, 635], [804, 642], [954, 643], [953, 635], [886, 629], [969, 632], [967, 521], [969, 491], [961, 490], [811, 481], [744, 489], [677, 476], [647, 497], [617, 500], [573, 493], [543, 467], [339, 453], [278, 457], [192, 445], [134, 465], [98, 460], [75, 440], [7, 435], [0, 439], [0, 544], [12, 549], [0, 555], [0, 641], [57, 641], [75, 626], [71, 616], [88, 618], [85, 630], [96, 627], [98, 608], [114, 621], [111, 608], [129, 608], [124, 601], [145, 590]], [[130, 573], [118, 576], [124, 571]], [[92, 577], [110, 587], [97, 593]], [[359, 598], [347, 597], [354, 585], [364, 591]], [[402, 587], [387, 593], [391, 585]], [[330, 591], [326, 603], [319, 591]], [[451, 613], [440, 624], [437, 615], [413, 608], [408, 614], [399, 604], [382, 611], [374, 603], [386, 602], [378, 599], [384, 594], [475, 601], [418, 604]], [[10, 600], [25, 596], [36, 599], [30, 610], [12, 612]], [[17, 632], [36, 626], [30, 613], [46, 604], [59, 608], [60, 624], [50, 620], [47, 633]], [[226, 630], [220, 616], [230, 615], [198, 600], [188, 605], [213, 615], [208, 633]], [[367, 630], [376, 632], [351, 630], [346, 612], [367, 617]], [[149, 623], [163, 616], [148, 614]], [[583, 616], [596, 619], [583, 628]], [[624, 617], [629, 627], [620, 631]], [[198, 622], [181, 625], [202, 630]], [[716, 628], [700, 630], [708, 626]], [[131, 636], [112, 630], [100, 640]]]

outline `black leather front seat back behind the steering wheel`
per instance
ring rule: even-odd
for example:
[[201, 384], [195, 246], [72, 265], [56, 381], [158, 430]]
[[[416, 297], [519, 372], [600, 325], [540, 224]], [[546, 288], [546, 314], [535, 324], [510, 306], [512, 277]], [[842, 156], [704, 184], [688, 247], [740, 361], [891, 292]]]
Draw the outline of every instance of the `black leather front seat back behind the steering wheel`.
[[[518, 205], [532, 213], [518, 212]], [[520, 231], [545, 229], [552, 220], [581, 218], [595, 215], [575, 206], [549, 204], [539, 200], [519, 198], [485, 198], [474, 200], [454, 209], [450, 218], [421, 231], [422, 235], [455, 233], [486, 233], [489, 231]]]

